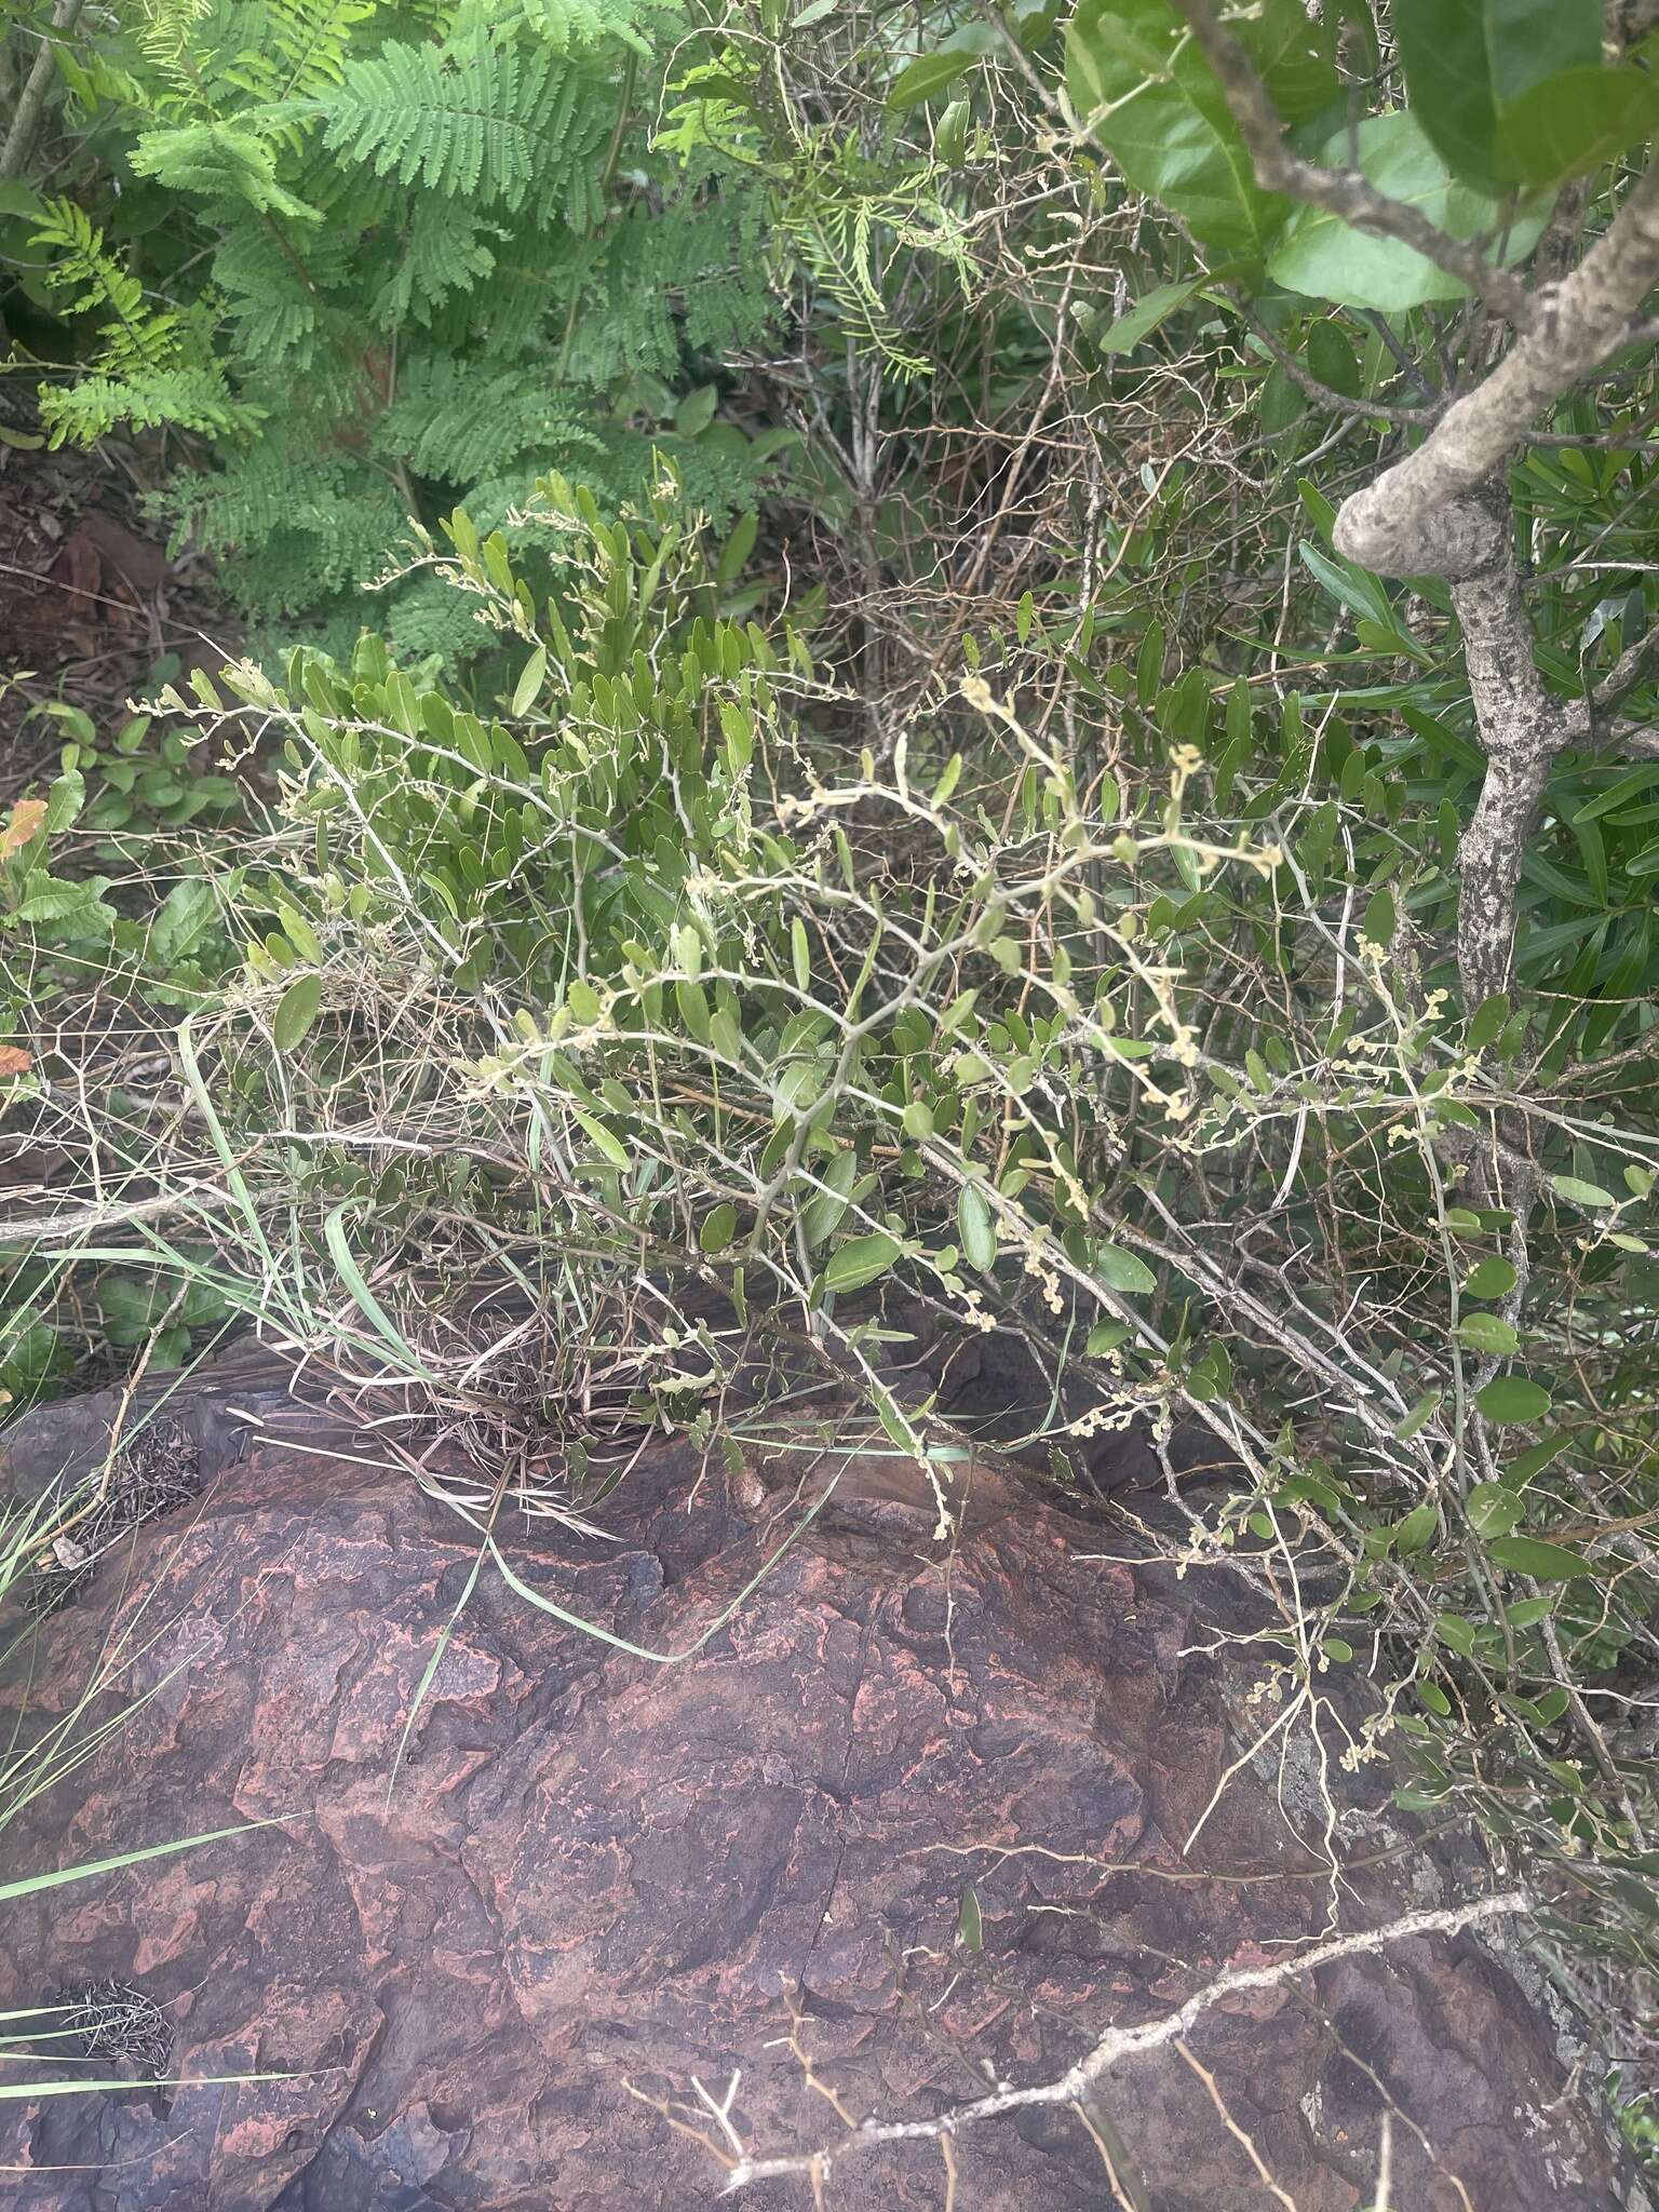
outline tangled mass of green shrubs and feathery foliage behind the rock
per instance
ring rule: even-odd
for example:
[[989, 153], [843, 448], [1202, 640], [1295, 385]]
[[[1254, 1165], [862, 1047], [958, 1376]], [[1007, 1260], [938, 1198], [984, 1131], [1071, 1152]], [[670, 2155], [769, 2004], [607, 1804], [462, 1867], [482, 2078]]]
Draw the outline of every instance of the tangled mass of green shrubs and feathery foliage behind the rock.
[[[1542, 281], [1659, 108], [1597, 4], [1511, 15], [1232, 29], [1303, 157]], [[580, 1358], [644, 1332], [633, 1411], [710, 1449], [763, 1323], [938, 1467], [883, 1314], [1004, 1332], [1062, 1482], [1208, 1425], [1172, 1542], [1283, 1599], [1285, 1703], [1367, 1663], [1340, 1756], [1402, 1745], [1571, 1986], [1637, 1986], [1659, 759], [1555, 763], [1462, 1004], [1455, 613], [1332, 542], [1500, 345], [1447, 254], [1263, 190], [1168, 0], [119, 22], [0, 201], [80, 345], [42, 420], [161, 442], [261, 650], [137, 734], [44, 701], [13, 1104], [104, 1212], [20, 1239], [7, 1387], [257, 1314], [438, 1420], [438, 1252]], [[1655, 400], [1639, 332], [1509, 473], [1559, 701], [1659, 613]], [[93, 1004], [168, 1055], [97, 1144], [42, 1077]]]

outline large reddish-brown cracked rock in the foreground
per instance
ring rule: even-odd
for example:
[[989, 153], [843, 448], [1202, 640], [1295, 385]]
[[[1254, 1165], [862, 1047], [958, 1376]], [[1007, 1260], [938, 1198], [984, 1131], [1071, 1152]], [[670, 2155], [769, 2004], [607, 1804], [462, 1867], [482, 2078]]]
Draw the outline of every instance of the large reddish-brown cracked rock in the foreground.
[[[1340, 1882], [1272, 1774], [1203, 1818], [1263, 1677], [1206, 1650], [1212, 1584], [1079, 1557], [1121, 1531], [998, 1478], [953, 1557], [854, 1489], [675, 1666], [484, 1568], [414, 1723], [476, 1540], [407, 1473], [254, 1447], [102, 1559], [24, 1628], [0, 1723], [64, 1710], [111, 1635], [148, 1694], [11, 1825], [7, 1874], [281, 1825], [4, 1907], [0, 2008], [131, 1984], [186, 2084], [0, 2106], [13, 2212], [690, 2212], [721, 2168], [635, 2090], [695, 2106], [741, 2068], [757, 2154], [843, 2132], [790, 2002], [854, 2117], [927, 2117], [1051, 2079], [1228, 1966], [1486, 1885], [1471, 1851], [1376, 1856], [1398, 1834], [1376, 1770], [1334, 1772]], [[779, 1504], [661, 1447], [604, 1506], [613, 1542], [535, 1524], [504, 1548], [566, 1613], [686, 1652]], [[1252, 2148], [1164, 2046], [1102, 2084], [1106, 2150], [1066, 2110], [964, 2130], [960, 2212], [1254, 2212], [1263, 2168], [1298, 2212], [1358, 2212], [1385, 2112], [1413, 2212], [1639, 2201], [1471, 1933], [1225, 2000], [1188, 2048]], [[272, 2079], [212, 2079], [250, 2073]], [[827, 2203], [938, 2208], [940, 2150], [843, 2157]]]

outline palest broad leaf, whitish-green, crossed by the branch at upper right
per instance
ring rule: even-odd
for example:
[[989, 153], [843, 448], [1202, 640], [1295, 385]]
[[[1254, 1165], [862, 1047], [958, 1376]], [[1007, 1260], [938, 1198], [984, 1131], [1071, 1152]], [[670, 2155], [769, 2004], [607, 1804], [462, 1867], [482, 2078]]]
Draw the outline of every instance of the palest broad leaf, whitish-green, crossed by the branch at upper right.
[[[1338, 131], [1323, 148], [1332, 168], [1347, 168], [1349, 137]], [[1498, 230], [1504, 208], [1471, 184], [1460, 184], [1405, 108], [1371, 115], [1358, 126], [1360, 170], [1389, 199], [1402, 199], [1453, 239]], [[1520, 261], [1537, 246], [1548, 219], [1546, 201], [1531, 201], [1506, 230], [1504, 261]], [[1334, 299], [1345, 307], [1398, 314], [1433, 299], [1467, 299], [1469, 288], [1398, 239], [1354, 230], [1325, 208], [1296, 208], [1267, 259], [1267, 274], [1290, 292]]]

